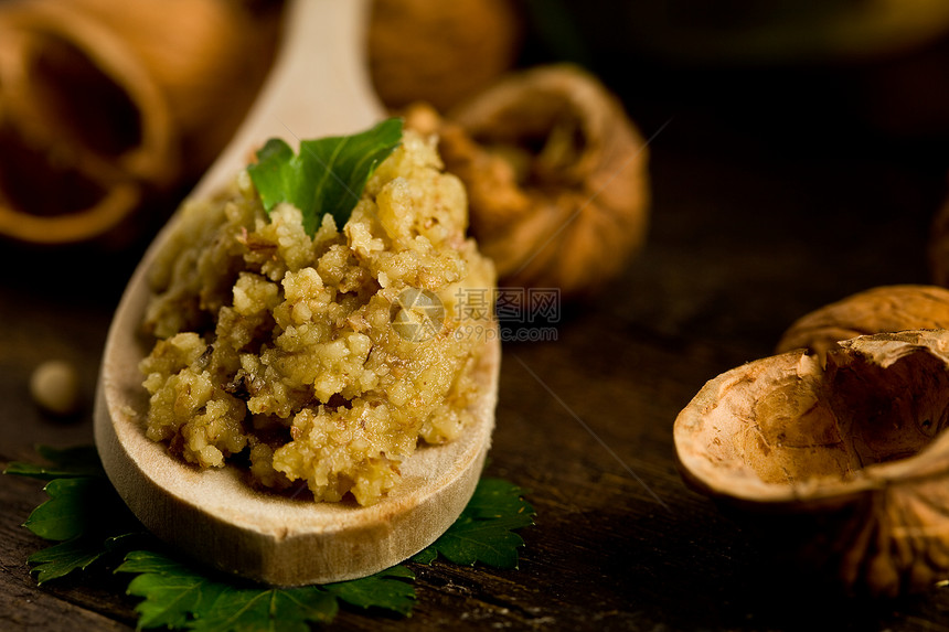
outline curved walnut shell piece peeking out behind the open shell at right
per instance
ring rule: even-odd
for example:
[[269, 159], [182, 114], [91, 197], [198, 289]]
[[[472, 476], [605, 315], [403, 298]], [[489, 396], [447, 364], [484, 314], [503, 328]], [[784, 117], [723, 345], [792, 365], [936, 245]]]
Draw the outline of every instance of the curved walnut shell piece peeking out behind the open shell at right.
[[882, 286], [824, 306], [795, 321], [776, 353], [824, 353], [838, 341], [909, 329], [949, 329], [949, 290], [936, 286]]

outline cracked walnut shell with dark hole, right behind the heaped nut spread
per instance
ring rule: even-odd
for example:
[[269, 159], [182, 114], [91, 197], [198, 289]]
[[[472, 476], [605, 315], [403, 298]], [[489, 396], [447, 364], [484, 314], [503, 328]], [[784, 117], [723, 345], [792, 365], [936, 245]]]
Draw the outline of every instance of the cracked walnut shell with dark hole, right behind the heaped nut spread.
[[569, 65], [507, 76], [437, 121], [446, 169], [466, 184], [471, 233], [500, 282], [589, 294], [646, 237], [646, 142], [617, 98]]

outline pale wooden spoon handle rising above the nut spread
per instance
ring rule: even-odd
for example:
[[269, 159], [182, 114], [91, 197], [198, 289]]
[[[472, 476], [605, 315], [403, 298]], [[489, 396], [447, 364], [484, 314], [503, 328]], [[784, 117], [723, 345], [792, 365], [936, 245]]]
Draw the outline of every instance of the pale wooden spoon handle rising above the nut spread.
[[367, 72], [370, 0], [289, 0], [281, 44], [259, 96], [191, 196], [204, 197], [246, 167], [253, 151], [280, 137], [361, 131], [385, 113]]

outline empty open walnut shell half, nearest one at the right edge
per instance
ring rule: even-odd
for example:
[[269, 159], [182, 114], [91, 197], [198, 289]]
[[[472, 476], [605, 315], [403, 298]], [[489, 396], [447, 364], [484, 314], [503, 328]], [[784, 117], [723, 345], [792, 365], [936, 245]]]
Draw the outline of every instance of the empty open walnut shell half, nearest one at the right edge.
[[857, 592], [949, 577], [949, 331], [860, 336], [708, 382], [675, 420], [681, 472]]

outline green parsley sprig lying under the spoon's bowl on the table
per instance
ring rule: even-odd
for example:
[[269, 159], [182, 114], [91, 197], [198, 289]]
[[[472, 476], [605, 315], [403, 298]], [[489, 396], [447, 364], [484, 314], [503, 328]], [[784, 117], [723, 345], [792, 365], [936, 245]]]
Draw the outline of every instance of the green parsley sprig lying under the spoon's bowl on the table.
[[[106, 478], [95, 448], [39, 447], [49, 464], [13, 462], [6, 474], [47, 481], [47, 501], [23, 526], [53, 542], [28, 558], [38, 583], [111, 567], [131, 576], [127, 592], [140, 598], [138, 628], [211, 632], [305, 632], [333, 620], [341, 606], [408, 617], [415, 575], [398, 565], [371, 577], [322, 586], [270, 588], [193, 566], [151, 536]], [[456, 523], [412, 563], [450, 563], [516, 568], [524, 542], [515, 529], [533, 524], [525, 491], [500, 479], [482, 479]], [[108, 519], [103, 519], [108, 516]]]

